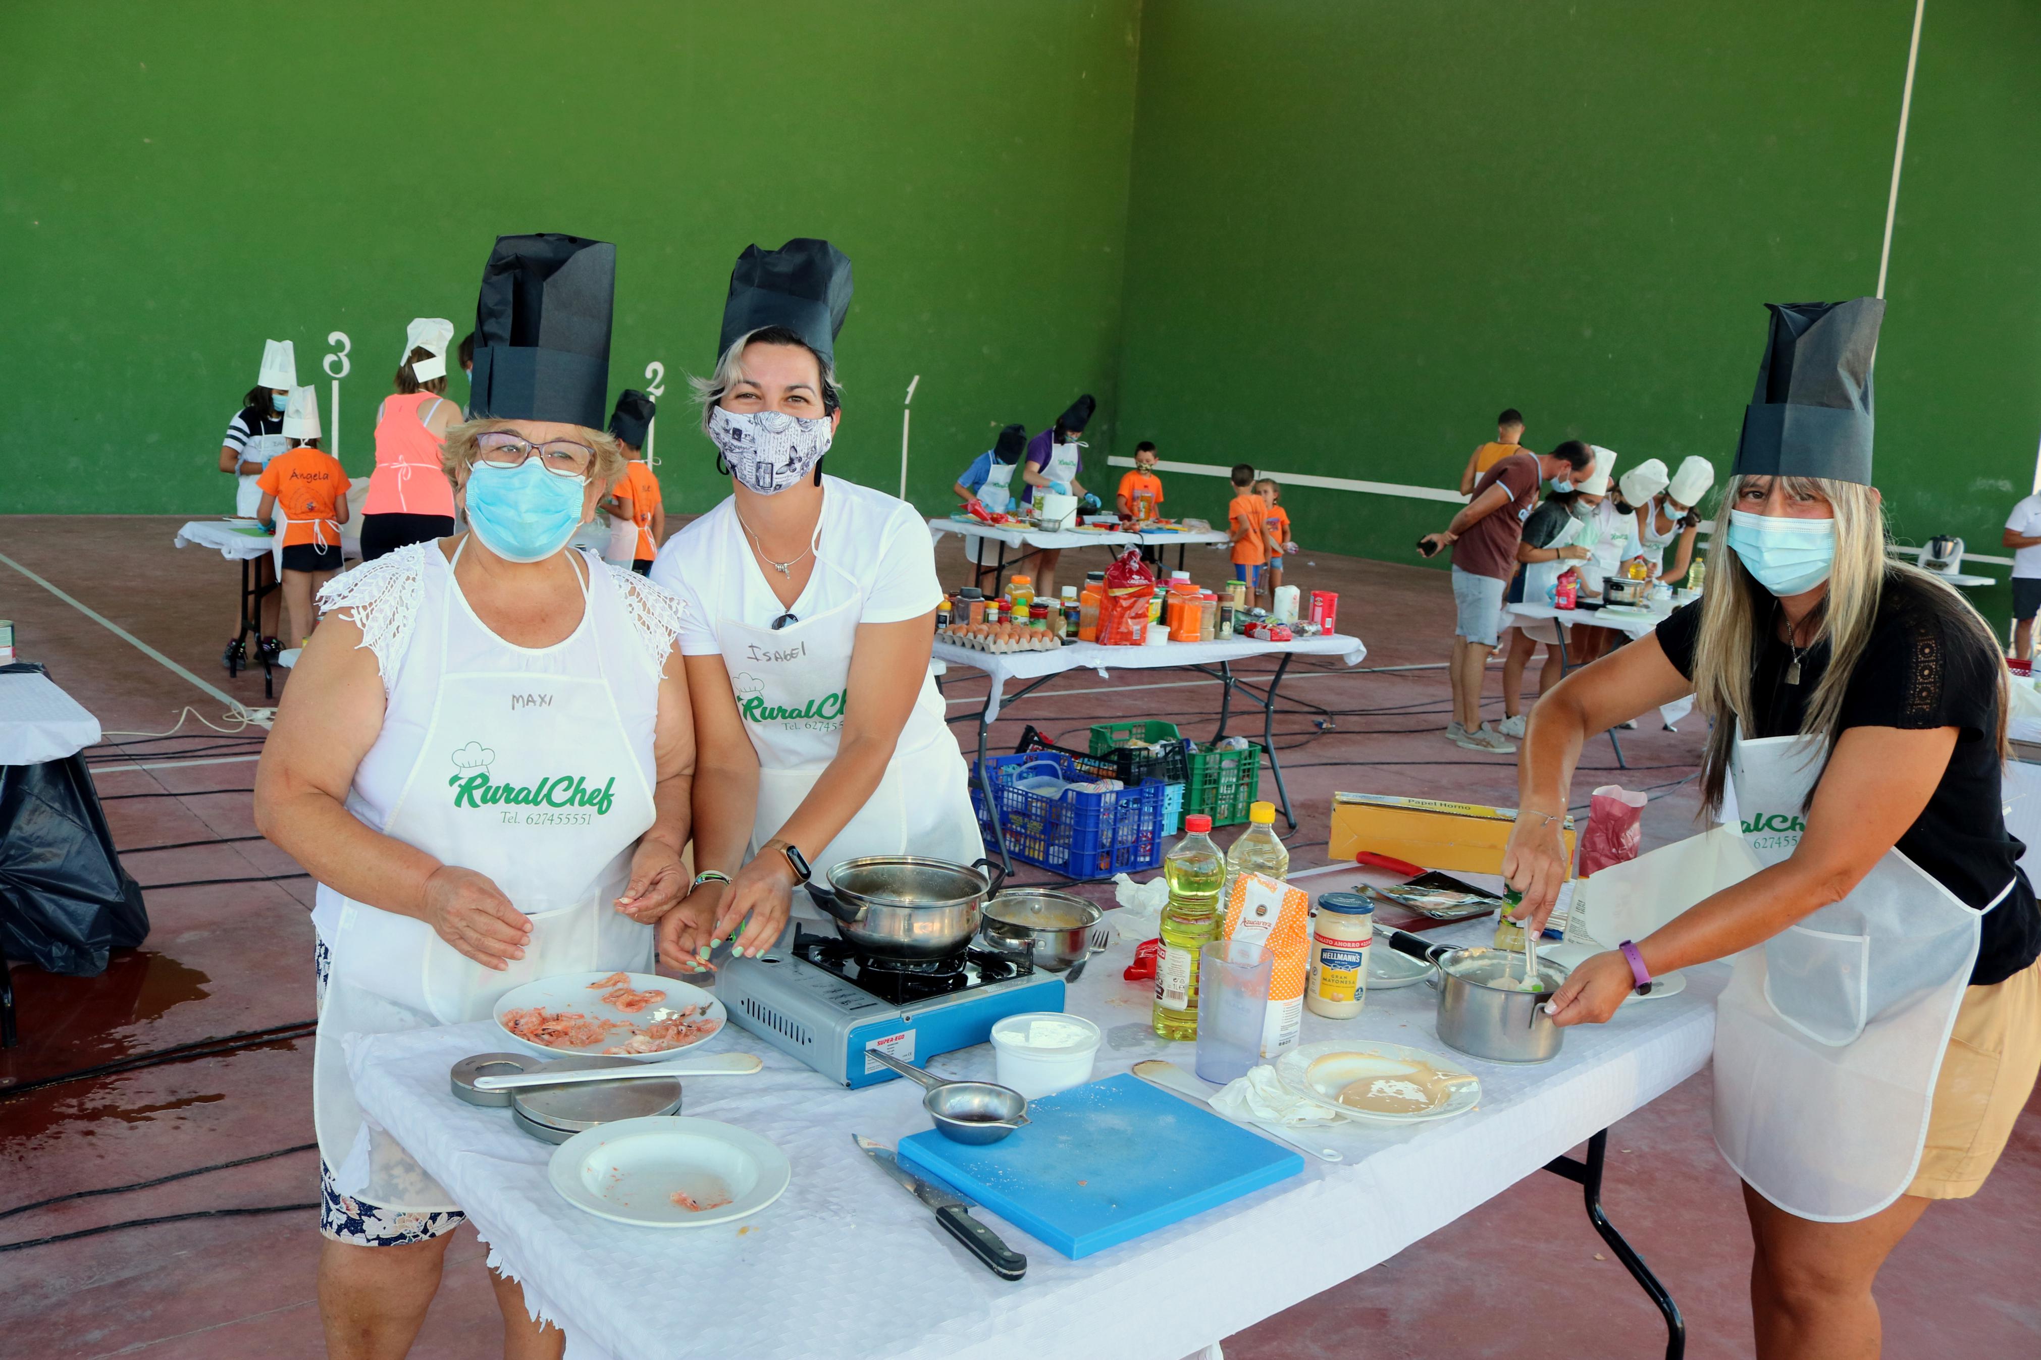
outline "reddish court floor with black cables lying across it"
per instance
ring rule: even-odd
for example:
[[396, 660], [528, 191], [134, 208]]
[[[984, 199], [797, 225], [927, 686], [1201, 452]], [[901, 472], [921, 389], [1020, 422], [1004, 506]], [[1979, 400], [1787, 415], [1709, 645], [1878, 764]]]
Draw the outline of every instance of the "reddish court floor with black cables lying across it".
[[[0, 518], [0, 555], [161, 650], [198, 679], [261, 705], [259, 675], [235, 681], [218, 652], [233, 620], [237, 567], [202, 548], [178, 551], [176, 518]], [[1090, 561], [1088, 561], [1090, 559]], [[961, 585], [955, 540], [939, 553]], [[1063, 577], [1104, 565], [1102, 551], [1065, 553]], [[1223, 555], [1194, 551], [1200, 581]], [[1414, 565], [1304, 555], [1290, 581], [1337, 589], [1341, 628], [1365, 638], [1365, 673], [1298, 663], [1284, 685], [1278, 746], [1298, 830], [1292, 862], [1325, 862], [1335, 789], [1514, 803], [1508, 756], [1443, 738], [1451, 589]], [[196, 720], [169, 740], [180, 710], [220, 722], [222, 703], [137, 650], [73, 604], [0, 563], [0, 618], [12, 618], [22, 659], [108, 730], [92, 754], [106, 816], [129, 871], [145, 885], [153, 934], [98, 979], [16, 966], [22, 1044], [0, 1054], [0, 1354], [35, 1360], [290, 1360], [322, 1354], [314, 1215], [304, 1209], [120, 1227], [10, 1252], [6, 1244], [200, 1209], [316, 1199], [310, 1042], [310, 883], [255, 838], [249, 785], [263, 728], [210, 732]], [[1398, 669], [1414, 667], [1414, 669]], [[961, 714], [984, 681], [951, 675]], [[1490, 671], [1492, 714], [1500, 675]], [[994, 728], [1010, 750], [1033, 722], [1084, 744], [1092, 722], [1167, 718], [1208, 732], [1218, 689], [1186, 673], [1118, 671], [1110, 681], [1063, 677]], [[233, 726], [233, 724], [222, 724]], [[1692, 783], [1700, 722], [1684, 732], [1645, 724], [1625, 734], [1631, 771], [1614, 771], [1606, 740], [1590, 744], [1580, 801], [1604, 781], [1651, 789], [1647, 844], [1694, 830]], [[1239, 724], [1235, 732], [1247, 730]], [[969, 728], [959, 726], [969, 742]], [[1263, 791], [1267, 779], [1263, 777]], [[188, 844], [196, 842], [196, 844]], [[157, 848], [153, 848], [157, 846]], [[167, 848], [178, 846], [178, 848]], [[231, 879], [231, 883], [212, 883]], [[176, 887], [190, 885], [190, 887]], [[69, 1081], [6, 1097], [6, 1085], [65, 1075], [127, 1054], [218, 1036], [276, 1042], [220, 1056]], [[280, 1156], [265, 1156], [280, 1154]], [[135, 1193], [78, 1199], [6, 1215], [33, 1201], [171, 1172], [222, 1166]], [[1749, 1244], [1735, 1176], [1708, 1136], [1702, 1073], [1619, 1123], [1610, 1136], [1610, 1217], [1686, 1309], [1688, 1354], [1747, 1356]], [[500, 1327], [469, 1230], [449, 1256], [445, 1287], [412, 1354], [476, 1360], [500, 1354]], [[1984, 1193], [1931, 1209], [1880, 1278], [1888, 1356], [2041, 1354], [2041, 1103], [2029, 1103]], [[686, 1285], [680, 1283], [684, 1289]], [[800, 1283], [788, 1280], [790, 1297]], [[1165, 1299], [1127, 1301], [1167, 1307]], [[1657, 1356], [1657, 1313], [1606, 1258], [1580, 1211], [1580, 1191], [1533, 1174], [1382, 1266], [1227, 1338], [1235, 1360], [1400, 1356]]]

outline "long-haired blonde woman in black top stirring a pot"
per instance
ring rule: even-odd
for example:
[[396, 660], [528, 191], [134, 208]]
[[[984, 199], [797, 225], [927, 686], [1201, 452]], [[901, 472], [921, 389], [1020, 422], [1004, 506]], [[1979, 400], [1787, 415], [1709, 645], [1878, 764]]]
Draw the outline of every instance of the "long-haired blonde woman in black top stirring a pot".
[[1582, 742], [1696, 695], [1702, 795], [1729, 820], [1594, 877], [1582, 924], [1619, 948], [1574, 969], [1553, 1017], [1598, 1024], [1735, 960], [1714, 1140], [1743, 1179], [1757, 1354], [1874, 1356], [1878, 1266], [1929, 1203], [1978, 1193], [2033, 1089], [2041, 916], [2000, 801], [1996, 638], [1886, 557], [1884, 304], [1772, 312], [1706, 595], [1533, 710], [1502, 871], [1543, 924]]

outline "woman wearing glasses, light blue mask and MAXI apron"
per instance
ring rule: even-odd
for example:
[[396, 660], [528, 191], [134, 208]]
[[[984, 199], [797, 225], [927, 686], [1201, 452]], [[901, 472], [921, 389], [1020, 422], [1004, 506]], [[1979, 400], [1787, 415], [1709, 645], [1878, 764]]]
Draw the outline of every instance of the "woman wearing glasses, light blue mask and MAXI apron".
[[[512, 987], [649, 973], [686, 891], [694, 722], [682, 606], [567, 548], [623, 473], [600, 430], [616, 249], [500, 237], [476, 418], [443, 475], [469, 530], [320, 595], [255, 775], [261, 832], [318, 881], [318, 1305], [331, 1356], [400, 1356], [461, 1213], [357, 1103], [347, 1044], [486, 1019]], [[565, 320], [559, 320], [559, 318]], [[512, 345], [545, 336], [559, 349]], [[563, 1338], [494, 1276], [508, 1356]]]

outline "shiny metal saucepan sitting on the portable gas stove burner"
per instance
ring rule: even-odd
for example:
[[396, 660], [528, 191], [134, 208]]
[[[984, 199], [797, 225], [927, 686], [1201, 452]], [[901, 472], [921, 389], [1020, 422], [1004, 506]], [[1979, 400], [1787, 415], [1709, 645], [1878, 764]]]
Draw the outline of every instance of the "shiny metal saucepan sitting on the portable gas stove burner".
[[978, 934], [978, 913], [1006, 871], [916, 854], [865, 854], [833, 865], [808, 897], [853, 946], [878, 958], [949, 958]]

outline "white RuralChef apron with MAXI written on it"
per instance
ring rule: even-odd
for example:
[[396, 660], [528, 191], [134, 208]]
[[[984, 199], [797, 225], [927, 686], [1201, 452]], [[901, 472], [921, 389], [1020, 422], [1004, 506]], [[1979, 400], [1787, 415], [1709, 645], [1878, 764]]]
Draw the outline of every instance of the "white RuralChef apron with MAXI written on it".
[[457, 599], [449, 567], [431, 620], [439, 669], [398, 673], [400, 687], [408, 677], [435, 693], [410, 777], [382, 830], [445, 865], [488, 875], [531, 918], [531, 944], [498, 973], [416, 918], [343, 899], [327, 942], [331, 975], [312, 1058], [318, 1154], [343, 1195], [418, 1213], [457, 1207], [363, 1115], [347, 1075], [349, 1036], [486, 1019], [506, 991], [555, 973], [651, 971], [651, 926], [614, 905], [631, 852], [653, 824], [651, 785], [604, 669], [620, 665], [618, 655], [633, 644], [614, 589], [608, 581], [590, 589], [584, 579], [582, 624], [565, 642], [539, 650], [571, 648], [569, 671], [514, 669], [506, 661], [525, 648], [496, 638]]

